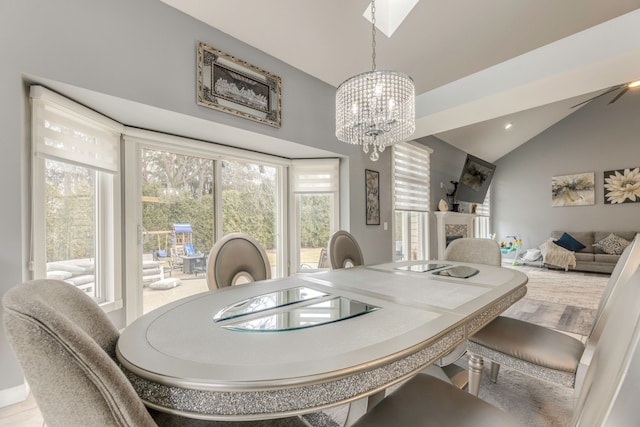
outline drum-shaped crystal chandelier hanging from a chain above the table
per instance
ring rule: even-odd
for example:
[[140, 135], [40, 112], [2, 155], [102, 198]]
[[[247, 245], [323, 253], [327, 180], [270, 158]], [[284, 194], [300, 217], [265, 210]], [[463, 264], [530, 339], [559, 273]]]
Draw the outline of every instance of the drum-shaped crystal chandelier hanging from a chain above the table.
[[416, 130], [415, 85], [397, 71], [376, 70], [375, 0], [371, 2], [371, 71], [351, 77], [336, 92], [336, 137], [371, 149], [372, 161], [385, 147], [402, 141]]

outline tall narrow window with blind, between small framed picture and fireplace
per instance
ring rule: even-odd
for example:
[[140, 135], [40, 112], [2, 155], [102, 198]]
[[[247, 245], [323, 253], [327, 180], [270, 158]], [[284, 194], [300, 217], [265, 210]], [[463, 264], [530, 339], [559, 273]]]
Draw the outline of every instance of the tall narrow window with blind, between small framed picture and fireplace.
[[396, 261], [429, 258], [430, 154], [417, 143], [393, 146]]

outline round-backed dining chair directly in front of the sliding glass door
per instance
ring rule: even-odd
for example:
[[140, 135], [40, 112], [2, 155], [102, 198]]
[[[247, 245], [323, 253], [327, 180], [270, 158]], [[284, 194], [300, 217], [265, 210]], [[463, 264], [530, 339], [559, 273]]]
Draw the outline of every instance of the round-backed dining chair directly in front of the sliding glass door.
[[229, 233], [218, 240], [207, 260], [207, 285], [219, 289], [271, 278], [271, 263], [256, 239], [245, 233]]

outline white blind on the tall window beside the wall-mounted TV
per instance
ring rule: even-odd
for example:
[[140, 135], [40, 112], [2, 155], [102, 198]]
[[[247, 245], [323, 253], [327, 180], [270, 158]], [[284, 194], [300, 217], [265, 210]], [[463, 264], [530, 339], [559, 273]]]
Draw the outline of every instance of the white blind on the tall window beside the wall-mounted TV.
[[429, 211], [430, 155], [428, 147], [409, 142], [393, 146], [394, 208]]

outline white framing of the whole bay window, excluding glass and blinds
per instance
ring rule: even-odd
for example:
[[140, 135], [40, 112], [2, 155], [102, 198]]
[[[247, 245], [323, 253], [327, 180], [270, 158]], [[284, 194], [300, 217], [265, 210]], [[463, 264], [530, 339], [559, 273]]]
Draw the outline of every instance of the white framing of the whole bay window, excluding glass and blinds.
[[[292, 237], [295, 229], [289, 224], [292, 212], [296, 213], [295, 198], [289, 185], [290, 168], [293, 164], [310, 162], [333, 162], [338, 179], [335, 188], [330, 191], [333, 196], [331, 232], [340, 227], [340, 159], [309, 159], [292, 160], [264, 153], [257, 153], [246, 149], [234, 148], [209, 141], [195, 140], [164, 134], [161, 132], [131, 128], [115, 122], [101, 114], [90, 110], [73, 100], [55, 94], [40, 86], [39, 91], [50, 95], [65, 107], [79, 111], [89, 119], [104, 120], [108, 126], [116, 129], [116, 154], [104, 154], [109, 159], [115, 159], [117, 172], [109, 173], [100, 170], [100, 166], [91, 167], [96, 170], [99, 178], [96, 180], [96, 286], [97, 281], [103, 283], [99, 293], [105, 296], [101, 303], [106, 312], [123, 310], [122, 323], [129, 324], [142, 314], [142, 198], [140, 194], [141, 182], [141, 153], [143, 148], [163, 151], [173, 151], [183, 155], [206, 157], [216, 162], [216, 182], [221, 182], [221, 168], [217, 167], [222, 160], [237, 160], [241, 162], [258, 163], [260, 165], [277, 168], [276, 182], [276, 248], [278, 264], [276, 277], [293, 274], [290, 271]], [[33, 120], [32, 120], [33, 122]], [[32, 147], [35, 139], [32, 138]], [[41, 153], [42, 154], [42, 153]], [[97, 155], [96, 158], [100, 158]], [[65, 161], [62, 158], [52, 160]], [[73, 164], [88, 167], [76, 159]], [[43, 209], [46, 195], [46, 160], [31, 153], [31, 258], [29, 268], [33, 278], [46, 277], [46, 245], [38, 244], [46, 239], [46, 210]], [[105, 170], [107, 170], [105, 168]], [[214, 184], [214, 206], [221, 209], [222, 188]], [[222, 216], [220, 211], [214, 214], [214, 236], [219, 239], [222, 235]], [[100, 266], [98, 266], [98, 262]], [[126, 304], [124, 304], [126, 301]], [[116, 316], [120, 316], [117, 315]]]

